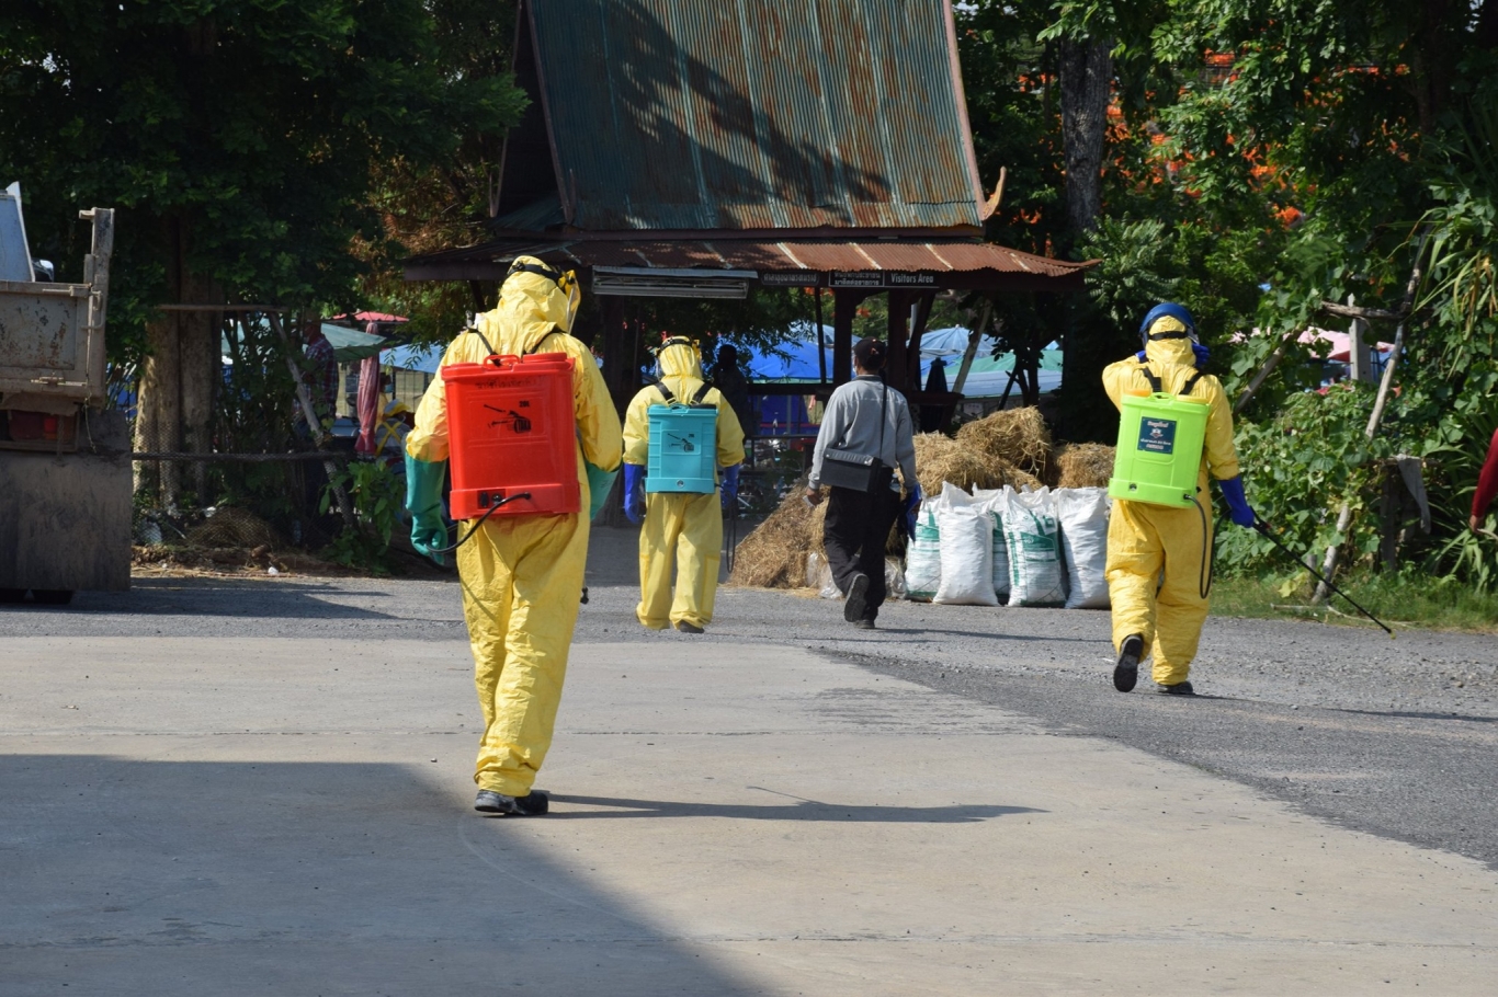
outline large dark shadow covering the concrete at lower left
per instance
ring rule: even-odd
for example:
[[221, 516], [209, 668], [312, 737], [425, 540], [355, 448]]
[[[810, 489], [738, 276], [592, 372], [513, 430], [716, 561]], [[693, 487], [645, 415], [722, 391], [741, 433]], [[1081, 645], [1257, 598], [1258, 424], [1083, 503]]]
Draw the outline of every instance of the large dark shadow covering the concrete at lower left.
[[418, 772], [0, 756], [0, 991], [764, 993]]

